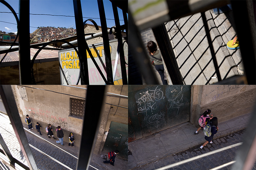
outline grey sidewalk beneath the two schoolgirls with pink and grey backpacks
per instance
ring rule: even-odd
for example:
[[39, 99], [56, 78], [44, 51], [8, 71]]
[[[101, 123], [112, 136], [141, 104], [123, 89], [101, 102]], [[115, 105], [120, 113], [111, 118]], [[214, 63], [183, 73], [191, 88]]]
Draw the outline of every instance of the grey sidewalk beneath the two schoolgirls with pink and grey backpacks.
[[[219, 131], [214, 135], [213, 143], [217, 138], [245, 129], [250, 116], [251, 114], [241, 115], [219, 123]], [[138, 168], [197, 145], [201, 146], [205, 139], [202, 130], [198, 135], [194, 134], [198, 127], [186, 122], [128, 143], [129, 151], [132, 153], [128, 155], [128, 169]]]

